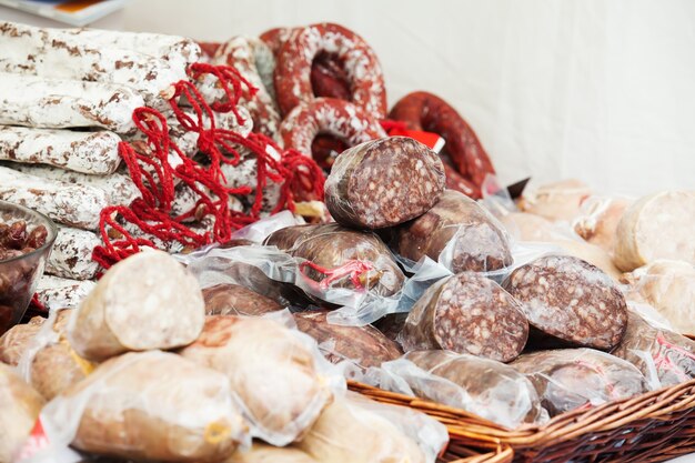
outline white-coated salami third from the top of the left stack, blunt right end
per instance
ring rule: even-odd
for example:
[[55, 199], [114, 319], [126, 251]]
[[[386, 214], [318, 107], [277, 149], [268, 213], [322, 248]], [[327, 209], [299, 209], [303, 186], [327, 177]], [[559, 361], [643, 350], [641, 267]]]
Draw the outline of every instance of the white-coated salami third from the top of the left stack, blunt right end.
[[75, 132], [0, 125], [0, 160], [108, 174], [121, 163], [120, 141], [119, 135], [105, 130]]

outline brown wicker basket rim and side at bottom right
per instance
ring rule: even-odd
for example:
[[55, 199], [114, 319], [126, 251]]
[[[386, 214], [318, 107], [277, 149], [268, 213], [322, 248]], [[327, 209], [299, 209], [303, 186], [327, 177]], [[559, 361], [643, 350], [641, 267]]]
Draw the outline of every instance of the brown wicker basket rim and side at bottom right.
[[[463, 462], [661, 462], [695, 452], [695, 380], [628, 400], [555, 416], [542, 426], [506, 430], [463, 410], [350, 382], [379, 402], [410, 406], [444, 423], [450, 449], [496, 451], [490, 460]], [[492, 460], [513, 450], [508, 460]], [[461, 455], [466, 456], [466, 455]], [[481, 455], [483, 457], [484, 455]], [[446, 460], [452, 461], [452, 460]]]

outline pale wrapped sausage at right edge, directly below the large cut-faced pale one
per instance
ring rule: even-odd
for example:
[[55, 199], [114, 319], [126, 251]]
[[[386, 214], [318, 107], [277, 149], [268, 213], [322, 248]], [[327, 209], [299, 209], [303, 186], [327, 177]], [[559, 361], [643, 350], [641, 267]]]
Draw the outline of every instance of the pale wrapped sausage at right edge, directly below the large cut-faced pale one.
[[652, 305], [674, 331], [695, 334], [695, 265], [657, 260], [626, 274], [625, 280], [627, 300]]

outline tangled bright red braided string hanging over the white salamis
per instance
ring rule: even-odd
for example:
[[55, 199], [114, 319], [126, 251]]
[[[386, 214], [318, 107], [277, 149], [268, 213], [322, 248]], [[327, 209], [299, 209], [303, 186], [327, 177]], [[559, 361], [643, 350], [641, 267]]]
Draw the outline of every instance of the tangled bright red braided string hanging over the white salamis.
[[[294, 210], [296, 198], [323, 199], [323, 173], [311, 158], [293, 150], [283, 151], [261, 133], [243, 137], [215, 127], [214, 112], [232, 112], [239, 124], [243, 124], [244, 119], [238, 110], [239, 100], [244, 91], [251, 97], [258, 91], [239, 71], [231, 67], [194, 63], [189, 68], [189, 76], [192, 81], [213, 76], [224, 92], [222, 101], [209, 104], [194, 83], [182, 80], [173, 84], [173, 97], [169, 100], [181, 128], [198, 134], [198, 150], [204, 154], [204, 164], [187, 157], [171, 140], [167, 118], [161, 112], [151, 108], [138, 108], [133, 112], [135, 127], [145, 141], [133, 144], [121, 142], [119, 153], [141, 198], [129, 205], [113, 205], [101, 211], [103, 245], [94, 249], [92, 259], [104, 269], [140, 252], [141, 246], [155, 248], [154, 242], [144, 236], [163, 242], [175, 241], [191, 249], [229, 241], [234, 230], [260, 219], [263, 189], [269, 181], [280, 184], [280, 200], [273, 212]], [[190, 105], [188, 112], [180, 107], [180, 101]], [[222, 165], [239, 164], [241, 155], [235, 147], [243, 147], [255, 155], [255, 188], [226, 187]], [[198, 201], [192, 210], [172, 217], [177, 183], [190, 188]], [[254, 202], [249, 213], [230, 210], [229, 195], [251, 193], [254, 194]], [[211, 231], [197, 231], [183, 223], [208, 215], [213, 220]], [[131, 227], [124, 227], [124, 223]], [[133, 236], [129, 229], [139, 229], [142, 235]], [[110, 235], [109, 230], [115, 232], [119, 239]]]

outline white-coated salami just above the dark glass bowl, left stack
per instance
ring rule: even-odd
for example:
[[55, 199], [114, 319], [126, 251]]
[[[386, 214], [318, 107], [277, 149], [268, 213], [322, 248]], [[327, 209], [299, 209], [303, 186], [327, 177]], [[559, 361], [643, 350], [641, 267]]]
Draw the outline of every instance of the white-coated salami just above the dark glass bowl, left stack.
[[0, 200], [85, 230], [97, 230], [99, 214], [109, 205], [107, 194], [98, 188], [41, 179], [3, 167], [0, 167]]

